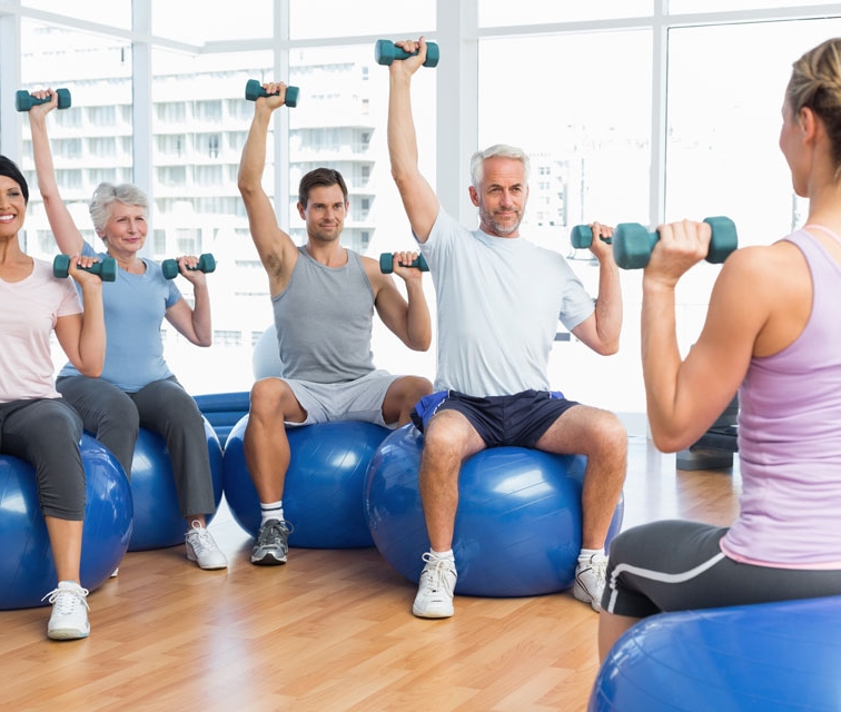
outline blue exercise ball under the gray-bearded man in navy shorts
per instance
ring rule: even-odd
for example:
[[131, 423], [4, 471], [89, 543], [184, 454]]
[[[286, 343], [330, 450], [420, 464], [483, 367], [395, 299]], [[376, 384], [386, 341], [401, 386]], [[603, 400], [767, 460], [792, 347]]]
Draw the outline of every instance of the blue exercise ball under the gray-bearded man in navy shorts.
[[[429, 537], [418, 491], [423, 435], [414, 425], [392, 433], [372, 459], [366, 516], [379, 553], [418, 582]], [[494, 447], [468, 457], [458, 477], [453, 553], [456, 593], [531, 596], [568, 589], [581, 550], [583, 455]], [[622, 525], [621, 501], [610, 542]], [[504, 572], [499, 562], [505, 562]]]

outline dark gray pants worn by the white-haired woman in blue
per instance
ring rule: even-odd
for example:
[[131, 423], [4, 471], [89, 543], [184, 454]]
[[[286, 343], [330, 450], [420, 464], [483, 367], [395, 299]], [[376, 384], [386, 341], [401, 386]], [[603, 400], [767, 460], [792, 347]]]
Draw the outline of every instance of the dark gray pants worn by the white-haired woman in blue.
[[175, 376], [126, 393], [108, 380], [65, 376], [56, 388], [81, 415], [85, 429], [131, 475], [139, 428], [164, 437], [172, 463], [178, 506], [186, 517], [216, 512], [210, 456], [201, 412]]

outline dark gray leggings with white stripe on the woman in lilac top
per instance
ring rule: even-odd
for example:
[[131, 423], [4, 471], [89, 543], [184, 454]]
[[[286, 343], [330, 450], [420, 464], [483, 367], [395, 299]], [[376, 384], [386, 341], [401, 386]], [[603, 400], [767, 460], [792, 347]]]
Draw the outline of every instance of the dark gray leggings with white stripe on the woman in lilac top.
[[602, 609], [645, 617], [666, 611], [841, 595], [841, 571], [743, 564], [719, 546], [726, 528], [664, 520], [611, 542]]

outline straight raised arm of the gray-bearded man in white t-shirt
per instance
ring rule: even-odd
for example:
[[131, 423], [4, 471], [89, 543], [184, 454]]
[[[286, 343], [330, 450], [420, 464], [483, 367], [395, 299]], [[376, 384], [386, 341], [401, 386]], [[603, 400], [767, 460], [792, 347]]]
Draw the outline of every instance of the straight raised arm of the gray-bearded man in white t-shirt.
[[416, 56], [392, 62], [388, 93], [388, 156], [392, 177], [403, 199], [415, 237], [425, 243], [438, 217], [438, 198], [417, 164], [417, 136], [412, 117], [412, 75], [426, 60], [426, 40], [397, 42], [397, 46]]

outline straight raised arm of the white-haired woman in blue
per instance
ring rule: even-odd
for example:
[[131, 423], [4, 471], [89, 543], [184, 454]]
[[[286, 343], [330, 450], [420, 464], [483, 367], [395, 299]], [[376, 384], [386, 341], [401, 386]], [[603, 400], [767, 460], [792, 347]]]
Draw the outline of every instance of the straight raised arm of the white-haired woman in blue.
[[50, 139], [47, 135], [47, 115], [58, 107], [58, 95], [51, 89], [47, 89], [46, 91], [36, 91], [33, 96], [39, 99], [50, 97], [48, 102], [38, 103], [29, 110], [38, 189], [41, 192], [41, 198], [43, 198], [43, 208], [47, 211], [47, 219], [50, 222], [50, 229], [56, 238], [59, 251], [66, 255], [77, 255], [81, 253], [85, 240], [61, 199], [61, 195], [59, 195]]

